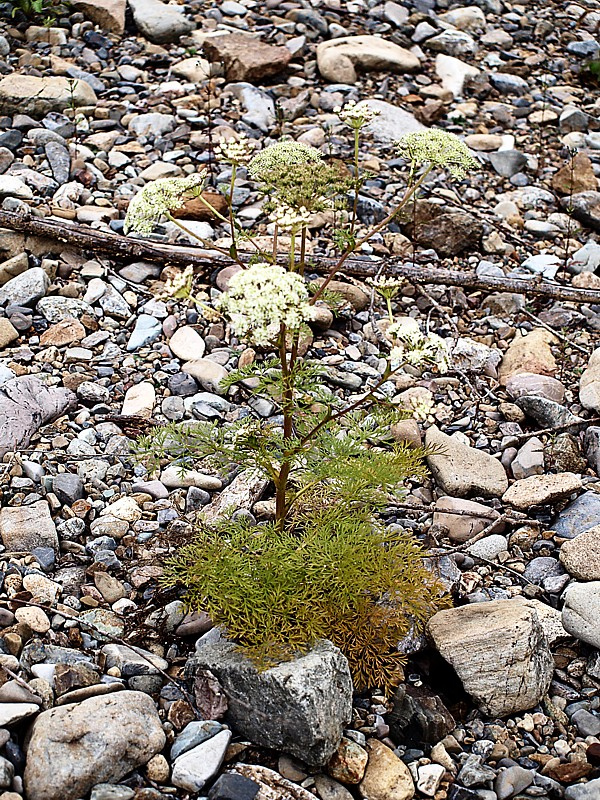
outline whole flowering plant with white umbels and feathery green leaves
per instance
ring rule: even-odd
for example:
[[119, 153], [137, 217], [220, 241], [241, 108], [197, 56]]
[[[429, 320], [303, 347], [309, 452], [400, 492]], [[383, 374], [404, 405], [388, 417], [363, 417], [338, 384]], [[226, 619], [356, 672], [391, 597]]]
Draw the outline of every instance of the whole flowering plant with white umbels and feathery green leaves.
[[[302, 336], [315, 323], [318, 303], [327, 300], [332, 279], [350, 255], [387, 227], [427, 175], [447, 169], [459, 177], [472, 162], [453, 134], [424, 131], [404, 137], [398, 148], [409, 166], [406, 189], [381, 222], [359, 233], [358, 193], [364, 180], [359, 141], [374, 114], [368, 106], [348, 105], [339, 116], [353, 131], [350, 178], [319, 150], [299, 142], [281, 141], [255, 155], [244, 141], [220, 146], [232, 170], [229, 255], [240, 269], [229, 277], [214, 307], [234, 336], [267, 351], [264, 357], [253, 353], [251, 363], [231, 371], [221, 390], [242, 387], [267, 397], [279, 416], [265, 424], [242, 417], [183, 431], [174, 424], [161, 426], [139, 441], [137, 452], [150, 468], [166, 456], [182, 468], [202, 461], [218, 470], [233, 462], [258, 471], [272, 487], [266, 524], [233, 518], [221, 520], [216, 532], [203, 526], [198, 541], [170, 562], [168, 580], [187, 587], [190, 607], [208, 608], [215, 622], [262, 665], [328, 636], [348, 656], [359, 688], [389, 687], [401, 676], [399, 638], [414, 621], [427, 618], [440, 595], [415, 542], [392, 537], [394, 544], [378, 518], [403, 496], [408, 477], [424, 474], [425, 451], [391, 441], [391, 426], [407, 414], [427, 419], [432, 411], [425, 392], [412, 396], [404, 410], [389, 400], [389, 391], [405, 367], [447, 371], [450, 351], [445, 340], [422, 331], [415, 320], [394, 318], [392, 300], [402, 283], [386, 277], [372, 286], [386, 301], [389, 352], [365, 391], [349, 398], [332, 392], [323, 364], [301, 355]], [[232, 204], [236, 169], [242, 164], [268, 196], [264, 208], [273, 229], [272, 251], [253, 242], [256, 252], [250, 261], [238, 251], [240, 228]], [[181, 180], [186, 182], [177, 184], [178, 190], [200, 185], [199, 178]], [[144, 196], [130, 206], [128, 230], [147, 231], [160, 208], [168, 214], [171, 198], [164, 186], [142, 191]], [[305, 271], [312, 216], [342, 205], [348, 222], [337, 237], [339, 257], [311, 293]], [[223, 215], [217, 218], [226, 221]], [[285, 262], [279, 258], [280, 230], [289, 232]], [[184, 273], [172, 283], [173, 297], [198, 301], [190, 278]], [[373, 542], [377, 546], [369, 550]], [[358, 572], [350, 570], [352, 564]], [[340, 584], [340, 571], [347, 583]], [[253, 583], [255, 606], [249, 610], [252, 576], [264, 580]], [[334, 590], [319, 589], [322, 584]]]

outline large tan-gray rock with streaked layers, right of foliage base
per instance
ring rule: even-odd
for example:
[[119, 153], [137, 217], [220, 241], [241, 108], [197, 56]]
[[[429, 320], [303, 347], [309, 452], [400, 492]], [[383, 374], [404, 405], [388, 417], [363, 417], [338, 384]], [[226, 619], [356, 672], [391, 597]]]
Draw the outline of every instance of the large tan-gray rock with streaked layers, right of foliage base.
[[428, 630], [486, 714], [526, 711], [548, 691], [554, 661], [537, 614], [519, 600], [438, 611]]

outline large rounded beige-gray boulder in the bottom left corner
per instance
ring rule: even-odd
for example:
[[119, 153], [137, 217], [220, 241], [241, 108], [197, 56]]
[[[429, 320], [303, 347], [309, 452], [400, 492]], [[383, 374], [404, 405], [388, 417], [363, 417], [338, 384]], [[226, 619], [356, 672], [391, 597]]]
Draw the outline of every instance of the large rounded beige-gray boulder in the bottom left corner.
[[77, 800], [146, 764], [166, 737], [152, 698], [116, 692], [44, 711], [27, 747], [28, 800]]

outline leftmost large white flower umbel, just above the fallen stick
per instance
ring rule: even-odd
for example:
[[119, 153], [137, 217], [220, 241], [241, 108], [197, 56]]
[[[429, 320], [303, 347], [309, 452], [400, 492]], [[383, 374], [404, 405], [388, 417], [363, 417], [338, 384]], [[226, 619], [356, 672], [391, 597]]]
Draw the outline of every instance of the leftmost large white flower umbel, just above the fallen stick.
[[206, 170], [185, 178], [160, 178], [144, 186], [129, 203], [124, 231], [152, 233], [163, 214], [180, 208], [189, 197], [202, 191]]

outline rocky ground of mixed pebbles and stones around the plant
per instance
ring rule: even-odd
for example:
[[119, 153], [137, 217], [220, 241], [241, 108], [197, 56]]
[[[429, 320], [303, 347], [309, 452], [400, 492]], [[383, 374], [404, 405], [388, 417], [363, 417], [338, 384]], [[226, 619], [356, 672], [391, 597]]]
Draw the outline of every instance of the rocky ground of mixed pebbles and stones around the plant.
[[[430, 182], [416, 227], [390, 225], [365, 257], [600, 288], [594, 3], [73, 0], [46, 26], [13, 8], [0, 4], [4, 211], [121, 233], [147, 181], [208, 165], [227, 182], [221, 135], [347, 157], [334, 109], [365, 101], [381, 113], [361, 152], [364, 226], [402, 186], [402, 133], [441, 126], [480, 161], [458, 185]], [[234, 199], [263, 225], [243, 173]], [[189, 244], [172, 224], [154, 238]], [[159, 585], [196, 514], [271, 504], [243, 473], [148, 475], [131, 441], [153, 422], [275, 418], [220, 387], [254, 354], [156, 299], [172, 267], [9, 230], [0, 252], [0, 800], [600, 798], [599, 307], [439, 286], [398, 298], [397, 315], [453, 340], [454, 364], [389, 386], [432, 405], [395, 436], [443, 446], [389, 524], [431, 549], [456, 607], [402, 643], [393, 698], [352, 703], [335, 649], [248, 677]], [[366, 285], [338, 289], [346, 305], [311, 352], [353, 397], [380, 375], [383, 310]], [[310, 702], [282, 709], [294, 680]]]

